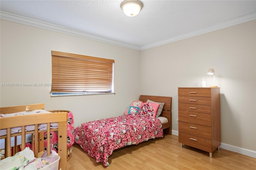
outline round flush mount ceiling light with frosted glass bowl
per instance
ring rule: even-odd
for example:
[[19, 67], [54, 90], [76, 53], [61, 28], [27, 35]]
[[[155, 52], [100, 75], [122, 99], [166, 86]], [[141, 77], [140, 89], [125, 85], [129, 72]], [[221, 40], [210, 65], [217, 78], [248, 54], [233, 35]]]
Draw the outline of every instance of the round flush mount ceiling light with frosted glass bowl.
[[127, 16], [136, 16], [143, 8], [143, 4], [139, 0], [125, 0], [120, 7]]

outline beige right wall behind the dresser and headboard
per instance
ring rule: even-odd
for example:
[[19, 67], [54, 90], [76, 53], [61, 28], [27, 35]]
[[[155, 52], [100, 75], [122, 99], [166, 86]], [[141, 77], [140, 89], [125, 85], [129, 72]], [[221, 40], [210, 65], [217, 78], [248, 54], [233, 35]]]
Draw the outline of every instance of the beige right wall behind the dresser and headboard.
[[221, 142], [256, 151], [256, 21], [141, 51], [140, 92], [172, 96], [178, 131], [178, 87], [220, 87]]

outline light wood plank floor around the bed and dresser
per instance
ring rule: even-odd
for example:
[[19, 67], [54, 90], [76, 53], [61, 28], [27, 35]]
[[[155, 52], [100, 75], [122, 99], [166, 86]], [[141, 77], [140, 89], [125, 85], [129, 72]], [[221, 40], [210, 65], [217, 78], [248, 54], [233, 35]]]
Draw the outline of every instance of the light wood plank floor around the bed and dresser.
[[108, 158], [109, 166], [96, 163], [77, 144], [67, 170], [256, 170], [256, 158], [220, 149], [212, 153], [183, 145], [178, 136], [148, 140], [138, 145], [114, 150]]

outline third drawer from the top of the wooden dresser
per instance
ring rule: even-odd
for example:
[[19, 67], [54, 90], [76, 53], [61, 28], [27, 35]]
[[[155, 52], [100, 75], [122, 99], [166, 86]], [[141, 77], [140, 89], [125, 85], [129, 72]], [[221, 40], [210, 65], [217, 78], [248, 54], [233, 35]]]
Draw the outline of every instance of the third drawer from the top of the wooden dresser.
[[179, 110], [211, 114], [211, 106], [179, 103]]

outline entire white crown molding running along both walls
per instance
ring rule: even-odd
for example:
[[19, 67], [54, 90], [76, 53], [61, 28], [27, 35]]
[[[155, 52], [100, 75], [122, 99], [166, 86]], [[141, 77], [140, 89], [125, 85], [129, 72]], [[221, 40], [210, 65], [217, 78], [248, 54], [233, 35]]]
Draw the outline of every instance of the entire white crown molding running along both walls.
[[18, 15], [11, 14], [11, 13], [8, 13], [8, 12], [0, 11], [0, 19], [12, 21], [12, 22], [17, 22], [17, 23], [25, 24], [25, 25], [29, 25], [29, 26], [34, 26], [34, 27], [38, 27], [38, 28], [43, 28], [43, 29], [46, 29], [46, 30], [60, 32], [60, 33], [64, 33], [64, 34], [68, 34], [68, 35], [72, 35], [72, 36], [81, 37], [81, 38], [86, 38], [86, 39], [94, 40], [94, 41], [98, 41], [98, 42], [109, 43], [109, 44], [112, 44], [112, 45], [118, 45], [118, 46], [121, 46], [121, 47], [126, 47], [126, 48], [135, 49], [135, 50], [140, 51], [140, 50], [149, 49], [149, 48], [152, 48], [152, 47], [157, 47], [159, 45], [164, 45], [164, 44], [167, 44], [167, 43], [175, 42], [175, 41], [178, 41], [178, 40], [183, 40], [183, 39], [190, 38], [190, 37], [193, 37], [193, 36], [198, 36], [200, 34], [205, 34], [205, 33], [212, 32], [212, 31], [215, 31], [215, 30], [219, 30], [219, 29], [222, 29], [222, 28], [234, 26], [236, 24], [241, 24], [243, 22], [256, 20], [256, 12], [253, 12], [251, 14], [247, 14], [247, 15], [244, 15], [244, 16], [241, 16], [241, 17], [238, 17], [238, 18], [234, 18], [232, 20], [228, 20], [228, 21], [222, 22], [220, 24], [215, 24], [215, 25], [209, 26], [207, 28], [203, 28], [203, 29], [200, 29], [200, 30], [196, 30], [196, 31], [193, 31], [193, 32], [189, 32], [189, 33], [186, 33], [186, 34], [182, 34], [182, 35], [179, 35], [179, 36], [175, 36], [175, 37], [172, 37], [172, 38], [168, 38], [166, 40], [161, 40], [161, 41], [158, 41], [158, 42], [155, 42], [155, 43], [150, 43], [148, 45], [143, 45], [143, 46], [137, 46], [137, 45], [132, 45], [132, 44], [124, 43], [124, 42], [119, 42], [119, 41], [112, 40], [112, 39], [109, 39], [109, 38], [104, 38], [104, 37], [97, 36], [97, 35], [94, 35], [94, 34], [88, 34], [88, 33], [85, 33], [85, 32], [72, 30], [72, 29], [69, 29], [69, 28], [57, 26], [57, 25], [54, 25], [54, 24], [49, 24], [49, 23], [46, 23], [46, 22], [41, 22], [41, 21], [38, 21], [38, 20], [33, 20], [31, 18], [18, 16]]

